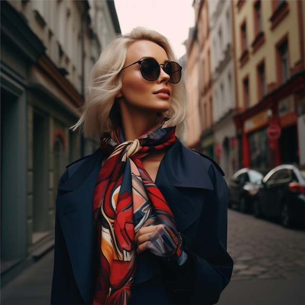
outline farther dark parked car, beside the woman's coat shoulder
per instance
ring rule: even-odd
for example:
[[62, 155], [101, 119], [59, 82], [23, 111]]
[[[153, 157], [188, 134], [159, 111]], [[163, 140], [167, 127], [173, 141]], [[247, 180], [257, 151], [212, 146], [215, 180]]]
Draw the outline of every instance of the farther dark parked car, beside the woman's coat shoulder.
[[261, 172], [243, 168], [234, 173], [229, 181], [229, 208], [237, 205], [243, 213], [252, 211], [253, 196], [259, 189], [257, 182], [263, 179]]

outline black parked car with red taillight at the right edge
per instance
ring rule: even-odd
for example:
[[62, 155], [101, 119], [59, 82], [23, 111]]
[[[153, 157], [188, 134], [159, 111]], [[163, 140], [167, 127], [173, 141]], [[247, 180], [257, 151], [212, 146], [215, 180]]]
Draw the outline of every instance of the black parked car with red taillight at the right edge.
[[283, 164], [268, 172], [255, 195], [253, 213], [276, 217], [285, 227], [304, 223], [305, 171]]

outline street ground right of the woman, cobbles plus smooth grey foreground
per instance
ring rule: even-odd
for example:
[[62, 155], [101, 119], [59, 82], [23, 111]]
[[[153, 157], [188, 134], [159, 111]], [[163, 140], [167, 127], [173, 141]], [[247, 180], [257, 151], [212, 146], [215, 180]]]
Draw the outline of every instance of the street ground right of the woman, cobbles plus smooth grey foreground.
[[286, 229], [230, 209], [228, 223], [234, 268], [218, 304], [304, 305], [304, 229]]

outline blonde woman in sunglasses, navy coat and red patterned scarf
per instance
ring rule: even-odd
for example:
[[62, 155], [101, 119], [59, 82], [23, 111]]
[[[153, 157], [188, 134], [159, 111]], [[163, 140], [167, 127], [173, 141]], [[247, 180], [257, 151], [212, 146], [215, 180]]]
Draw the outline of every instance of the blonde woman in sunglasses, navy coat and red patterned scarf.
[[167, 38], [136, 28], [95, 64], [74, 129], [101, 146], [59, 181], [52, 304], [214, 304], [228, 285], [227, 184], [175, 136], [176, 61]]

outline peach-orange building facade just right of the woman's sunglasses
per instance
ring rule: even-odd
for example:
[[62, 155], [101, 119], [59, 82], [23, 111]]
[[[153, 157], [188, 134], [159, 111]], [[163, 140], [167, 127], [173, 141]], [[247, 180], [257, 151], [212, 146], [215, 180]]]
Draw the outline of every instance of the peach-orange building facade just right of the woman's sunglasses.
[[[194, 1], [195, 26], [187, 48], [188, 135], [185, 145], [214, 157], [209, 1]], [[191, 140], [190, 140], [191, 139]]]

